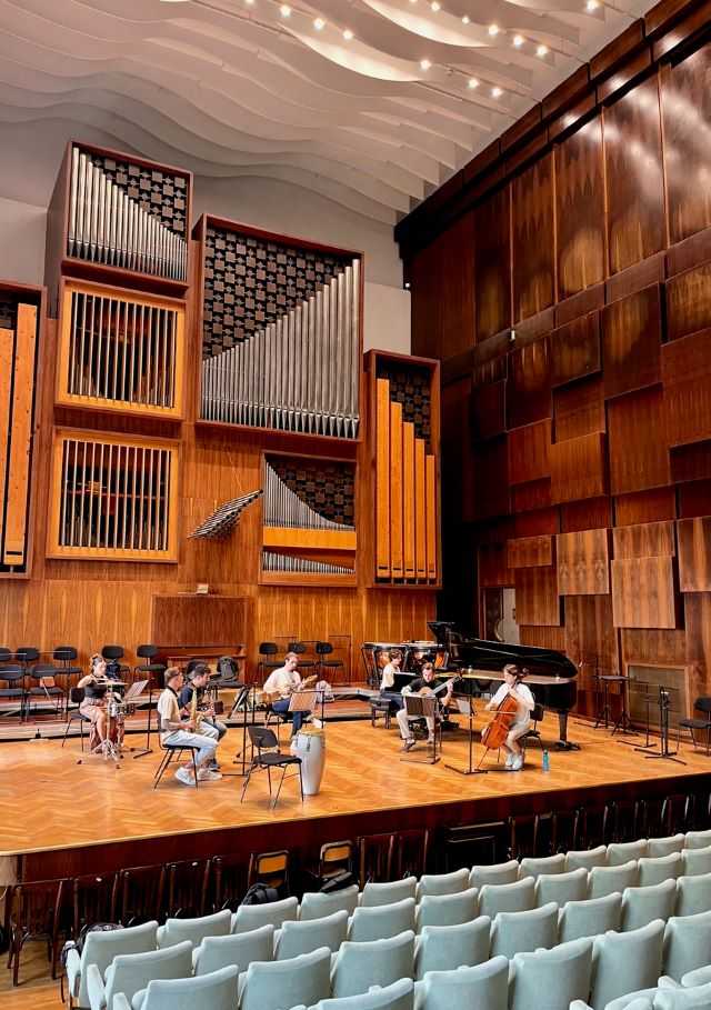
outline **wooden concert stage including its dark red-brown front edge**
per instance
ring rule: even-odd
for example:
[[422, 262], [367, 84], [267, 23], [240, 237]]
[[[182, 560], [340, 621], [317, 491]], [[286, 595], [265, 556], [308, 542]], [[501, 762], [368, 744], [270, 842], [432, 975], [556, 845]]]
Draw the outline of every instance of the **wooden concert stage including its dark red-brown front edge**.
[[[711, 788], [711, 759], [689, 744], [681, 753], [684, 766], [645, 760], [629, 746], [630, 738], [611, 738], [575, 718], [569, 736], [579, 751], [554, 749], [554, 716], [541, 729], [550, 749], [549, 772], [542, 771], [542, 752], [533, 746], [521, 772], [497, 768], [491, 752], [484, 762], [489, 774], [463, 777], [447, 767], [467, 763], [463, 731], [445, 734], [442, 760], [431, 766], [401, 760], [394, 720], [390, 730], [363, 721], [330, 723], [320, 794], [301, 804], [296, 781], [288, 781], [273, 812], [263, 772], [241, 804], [237, 777], [196, 791], [167, 776], [153, 790], [157, 749], [138, 760], [128, 753], [116, 768], [98, 758], [77, 763], [77, 740], [64, 749], [57, 740], [7, 743], [0, 746], [0, 854], [21, 857], [19, 872], [28, 880], [69, 877], [226, 852], [247, 858], [251, 851], [289, 848], [306, 854], [339, 838]], [[127, 738], [134, 741], [142, 742]], [[239, 770], [232, 757], [241, 741], [241, 731], [230, 730], [219, 751], [223, 771]], [[475, 761], [480, 754], [477, 737]], [[424, 746], [409, 757], [424, 759]]]

